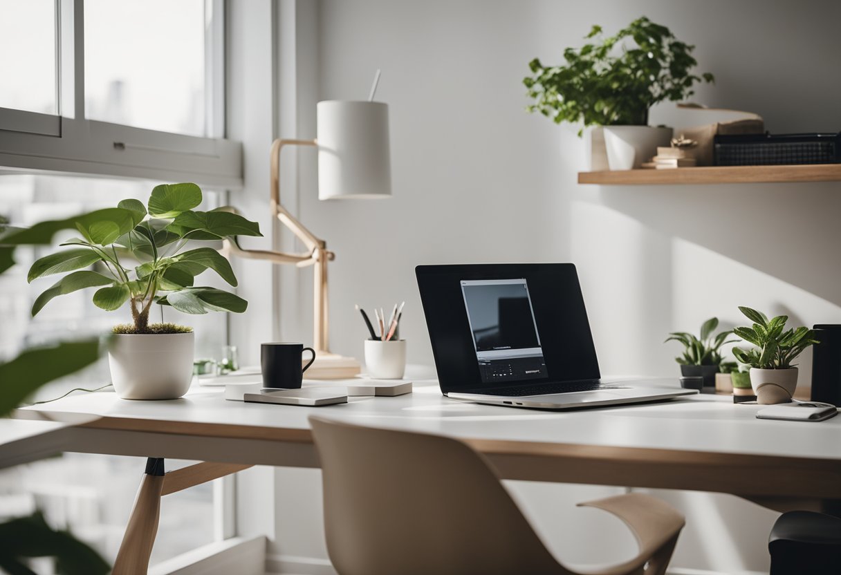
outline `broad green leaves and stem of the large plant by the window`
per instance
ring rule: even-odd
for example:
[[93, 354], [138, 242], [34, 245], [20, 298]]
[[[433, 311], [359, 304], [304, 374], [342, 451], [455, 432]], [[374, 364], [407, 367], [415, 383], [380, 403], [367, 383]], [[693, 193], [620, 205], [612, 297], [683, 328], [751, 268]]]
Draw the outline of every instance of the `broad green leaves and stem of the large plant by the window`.
[[[259, 226], [223, 208], [194, 210], [201, 202], [201, 189], [193, 183], [162, 184], [152, 190], [146, 206], [126, 199], [117, 208], [15, 231], [0, 243], [29, 243], [59, 229], [77, 229], [81, 238], [61, 244], [70, 249], [42, 257], [29, 268], [29, 282], [71, 272], [40, 294], [32, 314], [38, 314], [57, 296], [98, 287], [93, 293], [93, 303], [98, 308], [113, 311], [129, 303], [133, 333], [160, 333], [160, 328], [152, 329], [149, 324], [152, 303], [171, 305], [186, 314], [242, 313], [248, 305], [233, 293], [195, 286], [195, 277], [206, 270], [213, 270], [231, 286], [235, 287], [237, 281], [230, 263], [218, 251], [211, 247], [187, 251], [184, 248], [193, 241], [261, 235]], [[8, 261], [10, 254], [0, 251], [0, 270]], [[93, 265], [100, 269], [84, 269]]]

